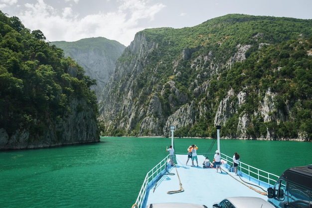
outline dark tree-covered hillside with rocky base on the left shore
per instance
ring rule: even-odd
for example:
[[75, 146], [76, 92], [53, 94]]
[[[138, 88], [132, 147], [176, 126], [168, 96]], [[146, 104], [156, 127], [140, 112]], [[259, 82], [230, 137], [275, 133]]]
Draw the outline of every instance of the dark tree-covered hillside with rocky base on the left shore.
[[0, 11], [0, 149], [99, 141], [95, 80], [40, 30]]

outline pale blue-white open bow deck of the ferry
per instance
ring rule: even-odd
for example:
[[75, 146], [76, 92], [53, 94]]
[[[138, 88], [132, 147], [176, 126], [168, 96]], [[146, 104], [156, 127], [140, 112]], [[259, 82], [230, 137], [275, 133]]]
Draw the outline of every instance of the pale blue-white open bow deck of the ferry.
[[[175, 167], [169, 167], [168, 171], [175, 175], [164, 175], [156, 183], [156, 186], [151, 188], [148, 192], [149, 204], [156, 203], [192, 203], [205, 205], [212, 207], [213, 203], [220, 202], [227, 197], [259, 197], [267, 200], [267, 196], [260, 194], [249, 187], [258, 190], [261, 193], [266, 192], [266, 188], [252, 186], [254, 184], [247, 179], [243, 181], [239, 176], [235, 176], [234, 173], [228, 172], [226, 168], [221, 166], [222, 174], [220, 170], [216, 173], [216, 169], [204, 169], [202, 163], [204, 156], [198, 156], [198, 167], [196, 161], [194, 161], [194, 167], [191, 167], [191, 160], [188, 161], [188, 165], [185, 165], [187, 155], [176, 155]], [[168, 191], [180, 190], [181, 186], [184, 192], [167, 194]], [[265, 190], [265, 191], [264, 191]]]

